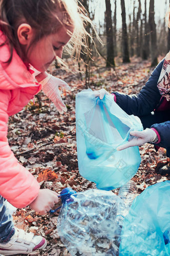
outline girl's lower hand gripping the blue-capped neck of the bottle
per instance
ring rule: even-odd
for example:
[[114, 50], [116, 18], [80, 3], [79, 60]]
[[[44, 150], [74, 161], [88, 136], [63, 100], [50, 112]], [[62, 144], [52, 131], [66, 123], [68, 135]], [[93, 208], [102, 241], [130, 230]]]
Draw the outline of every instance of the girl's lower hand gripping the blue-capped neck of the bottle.
[[39, 189], [37, 197], [29, 206], [39, 214], [46, 214], [58, 202], [58, 194], [50, 189]]

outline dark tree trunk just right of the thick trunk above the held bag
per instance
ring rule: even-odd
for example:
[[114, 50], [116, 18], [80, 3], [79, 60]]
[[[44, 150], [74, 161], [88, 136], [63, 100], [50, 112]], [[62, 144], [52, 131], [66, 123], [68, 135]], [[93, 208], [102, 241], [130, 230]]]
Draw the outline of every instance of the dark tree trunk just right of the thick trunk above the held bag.
[[122, 47], [123, 47], [123, 63], [130, 62], [128, 53], [128, 36], [127, 27], [125, 21], [125, 5], [124, 0], [120, 0], [121, 3], [121, 19], [122, 19]]

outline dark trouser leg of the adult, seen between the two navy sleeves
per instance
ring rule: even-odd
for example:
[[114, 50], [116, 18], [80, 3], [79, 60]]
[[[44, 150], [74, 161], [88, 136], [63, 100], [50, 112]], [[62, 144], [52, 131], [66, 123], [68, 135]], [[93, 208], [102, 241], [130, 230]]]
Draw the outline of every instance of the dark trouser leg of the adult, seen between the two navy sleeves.
[[161, 123], [170, 120], [170, 111], [155, 111], [148, 115], [139, 116], [143, 129], [150, 128], [154, 123]]

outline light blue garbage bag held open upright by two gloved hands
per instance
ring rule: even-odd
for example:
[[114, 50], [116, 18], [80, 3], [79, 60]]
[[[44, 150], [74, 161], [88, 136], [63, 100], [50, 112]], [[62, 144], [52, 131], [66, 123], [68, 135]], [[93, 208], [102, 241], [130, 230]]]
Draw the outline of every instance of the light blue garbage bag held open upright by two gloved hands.
[[138, 147], [116, 151], [130, 139], [130, 131], [142, 131], [140, 119], [126, 114], [105, 95], [91, 89], [76, 95], [76, 142], [79, 173], [98, 189], [111, 190], [130, 180], [140, 165]]

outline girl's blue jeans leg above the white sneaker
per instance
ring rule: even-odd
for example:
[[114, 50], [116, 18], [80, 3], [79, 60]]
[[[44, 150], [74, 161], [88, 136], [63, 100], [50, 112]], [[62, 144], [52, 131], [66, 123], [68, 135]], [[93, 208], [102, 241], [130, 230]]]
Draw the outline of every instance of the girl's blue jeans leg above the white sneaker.
[[6, 209], [6, 200], [0, 196], [0, 243], [8, 242], [13, 234], [13, 218]]

